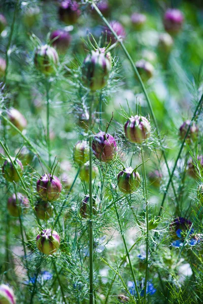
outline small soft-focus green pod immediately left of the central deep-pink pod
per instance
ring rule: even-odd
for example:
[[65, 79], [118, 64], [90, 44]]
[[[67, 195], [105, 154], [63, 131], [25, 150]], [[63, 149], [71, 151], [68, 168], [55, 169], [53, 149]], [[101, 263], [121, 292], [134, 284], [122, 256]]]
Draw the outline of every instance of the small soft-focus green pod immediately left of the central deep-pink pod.
[[78, 141], [74, 147], [74, 162], [79, 166], [89, 160], [89, 147], [86, 141]]

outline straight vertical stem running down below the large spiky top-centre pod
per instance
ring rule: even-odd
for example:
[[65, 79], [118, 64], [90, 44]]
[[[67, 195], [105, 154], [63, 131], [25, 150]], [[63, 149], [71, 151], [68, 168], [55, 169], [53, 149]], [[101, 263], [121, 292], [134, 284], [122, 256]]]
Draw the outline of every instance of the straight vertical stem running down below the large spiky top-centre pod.
[[92, 104], [94, 94], [90, 98], [89, 106], [89, 303], [93, 304], [93, 206], [92, 206]]

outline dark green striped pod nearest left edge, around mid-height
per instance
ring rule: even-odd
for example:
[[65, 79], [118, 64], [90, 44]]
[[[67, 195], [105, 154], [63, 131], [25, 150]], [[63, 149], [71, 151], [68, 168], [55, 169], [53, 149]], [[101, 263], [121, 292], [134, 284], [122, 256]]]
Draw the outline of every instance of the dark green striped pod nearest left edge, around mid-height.
[[[7, 180], [7, 181], [10, 181], [10, 182], [18, 182], [19, 181], [19, 176], [18, 176], [18, 173], [20, 174], [20, 176], [22, 176], [22, 173], [23, 173], [23, 165], [22, 163], [16, 159], [15, 157], [12, 157], [11, 158], [15, 167], [13, 166], [12, 162], [10, 161], [10, 159], [7, 159], [5, 162], [4, 162], [4, 165], [2, 167], [2, 173], [3, 173], [3, 176], [4, 178]], [[18, 171], [16, 171], [16, 169]]]

